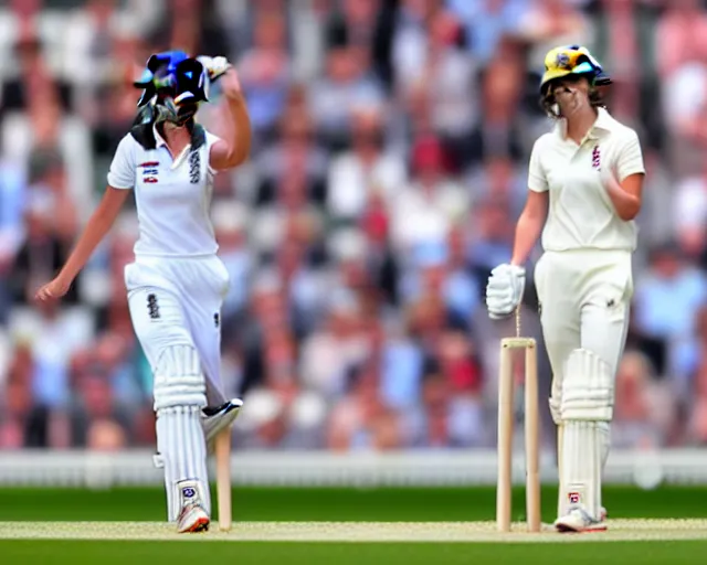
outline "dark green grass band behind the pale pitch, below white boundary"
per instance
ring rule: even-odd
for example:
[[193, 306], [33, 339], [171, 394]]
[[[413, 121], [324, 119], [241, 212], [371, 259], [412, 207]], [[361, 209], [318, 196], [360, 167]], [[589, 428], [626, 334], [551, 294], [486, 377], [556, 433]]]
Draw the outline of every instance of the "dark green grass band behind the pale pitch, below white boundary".
[[[215, 493], [212, 494], [215, 500]], [[0, 521], [160, 521], [161, 489], [0, 489]], [[707, 487], [605, 487], [610, 518], [707, 518]], [[233, 489], [236, 521], [465, 522], [493, 520], [494, 487]], [[514, 519], [524, 518], [524, 490], [514, 490]], [[552, 520], [557, 489], [542, 489], [542, 516]]]

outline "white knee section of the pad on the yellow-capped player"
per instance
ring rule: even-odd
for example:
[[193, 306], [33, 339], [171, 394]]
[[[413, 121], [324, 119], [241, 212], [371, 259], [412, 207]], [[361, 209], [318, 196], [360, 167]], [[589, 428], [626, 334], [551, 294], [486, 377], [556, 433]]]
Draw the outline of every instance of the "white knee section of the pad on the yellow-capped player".
[[609, 363], [585, 349], [576, 349], [564, 365], [561, 417], [611, 422], [614, 406], [614, 377]]

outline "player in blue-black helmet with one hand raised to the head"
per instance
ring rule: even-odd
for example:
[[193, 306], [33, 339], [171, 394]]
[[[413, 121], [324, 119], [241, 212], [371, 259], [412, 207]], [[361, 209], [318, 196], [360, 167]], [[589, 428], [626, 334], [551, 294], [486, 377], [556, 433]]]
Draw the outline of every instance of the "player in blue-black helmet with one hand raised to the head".
[[[224, 100], [223, 138], [194, 121], [215, 79]], [[139, 237], [125, 282], [155, 376], [155, 460], [165, 470], [168, 520], [178, 532], [198, 532], [210, 523], [208, 446], [242, 404], [225, 401], [219, 373], [219, 317], [229, 277], [209, 217], [212, 181], [217, 171], [247, 158], [250, 118], [224, 57], [158, 53], [135, 85], [144, 89], [140, 111], [116, 150], [106, 192], [66, 264], [36, 299], [66, 294], [133, 190]]]

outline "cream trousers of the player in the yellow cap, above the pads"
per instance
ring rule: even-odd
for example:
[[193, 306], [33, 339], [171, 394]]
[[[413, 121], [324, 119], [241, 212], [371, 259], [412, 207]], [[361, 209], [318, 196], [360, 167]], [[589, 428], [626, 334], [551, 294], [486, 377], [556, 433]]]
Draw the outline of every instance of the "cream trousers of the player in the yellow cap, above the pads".
[[553, 394], [576, 349], [592, 351], [615, 375], [629, 330], [631, 253], [547, 252], [536, 265], [535, 281]]

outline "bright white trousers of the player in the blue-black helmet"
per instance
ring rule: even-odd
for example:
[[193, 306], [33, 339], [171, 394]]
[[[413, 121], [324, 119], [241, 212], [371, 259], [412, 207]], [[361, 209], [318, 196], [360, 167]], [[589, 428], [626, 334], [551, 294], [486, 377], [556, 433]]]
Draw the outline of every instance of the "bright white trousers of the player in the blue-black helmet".
[[209, 404], [225, 402], [221, 305], [229, 274], [221, 259], [139, 256], [125, 267], [125, 284], [133, 327], [152, 372], [166, 348], [176, 341], [191, 342], [207, 380]]

